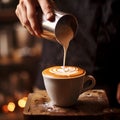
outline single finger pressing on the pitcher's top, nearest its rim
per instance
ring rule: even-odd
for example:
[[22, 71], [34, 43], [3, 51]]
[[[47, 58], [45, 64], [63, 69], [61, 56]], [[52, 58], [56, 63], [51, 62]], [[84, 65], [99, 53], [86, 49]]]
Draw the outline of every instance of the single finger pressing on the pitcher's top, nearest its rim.
[[41, 9], [46, 16], [47, 20], [54, 21], [54, 2], [51, 0], [38, 0]]

